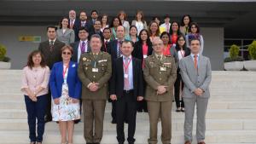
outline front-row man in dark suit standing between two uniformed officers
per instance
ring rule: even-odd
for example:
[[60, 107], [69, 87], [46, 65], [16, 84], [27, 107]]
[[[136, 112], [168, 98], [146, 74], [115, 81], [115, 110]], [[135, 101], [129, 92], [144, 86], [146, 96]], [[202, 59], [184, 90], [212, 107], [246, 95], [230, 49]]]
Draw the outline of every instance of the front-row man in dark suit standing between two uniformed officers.
[[121, 44], [123, 57], [113, 63], [110, 85], [110, 98], [116, 101], [117, 140], [124, 144], [125, 120], [128, 126], [129, 144], [134, 144], [136, 129], [137, 101], [143, 101], [143, 67], [141, 60], [131, 57], [131, 41]]

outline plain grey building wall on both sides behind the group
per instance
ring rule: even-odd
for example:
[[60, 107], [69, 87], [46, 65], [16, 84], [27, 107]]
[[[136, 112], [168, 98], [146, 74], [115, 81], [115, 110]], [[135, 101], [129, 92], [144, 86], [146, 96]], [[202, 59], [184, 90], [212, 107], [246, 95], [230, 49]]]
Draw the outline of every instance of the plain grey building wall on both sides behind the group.
[[[46, 28], [44, 26], [0, 26], [0, 43], [8, 50], [8, 56], [12, 59], [12, 69], [21, 69], [26, 65], [27, 55], [38, 49], [38, 43], [19, 42], [19, 36], [42, 36], [46, 40]], [[212, 70], [223, 70], [224, 55], [224, 29], [201, 28], [205, 40], [203, 55], [212, 61]]]

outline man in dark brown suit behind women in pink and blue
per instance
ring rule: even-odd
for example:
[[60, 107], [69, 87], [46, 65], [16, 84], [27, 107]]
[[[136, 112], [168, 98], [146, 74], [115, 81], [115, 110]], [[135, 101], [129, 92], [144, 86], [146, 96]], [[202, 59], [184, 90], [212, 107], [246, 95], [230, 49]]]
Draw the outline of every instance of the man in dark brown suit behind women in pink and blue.
[[[56, 27], [48, 26], [47, 27], [47, 37], [48, 40], [39, 44], [38, 50], [42, 52], [44, 55], [44, 59], [46, 61], [46, 65], [49, 66], [49, 69], [52, 68], [55, 62], [59, 62], [62, 60], [61, 58], [61, 48], [65, 46], [65, 43], [62, 43], [56, 38]], [[51, 93], [49, 91], [48, 94], [48, 103], [47, 110], [45, 115], [45, 122], [49, 122], [52, 120], [51, 117]]]

